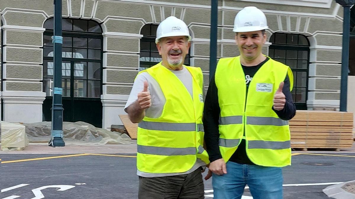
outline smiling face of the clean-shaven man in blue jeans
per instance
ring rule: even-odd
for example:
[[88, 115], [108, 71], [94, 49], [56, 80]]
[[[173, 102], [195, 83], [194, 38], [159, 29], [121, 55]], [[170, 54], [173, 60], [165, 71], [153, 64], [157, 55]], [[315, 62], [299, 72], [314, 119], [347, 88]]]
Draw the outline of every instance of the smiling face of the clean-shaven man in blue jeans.
[[262, 30], [237, 33], [235, 41], [241, 56], [247, 61], [253, 61], [262, 55], [262, 47], [266, 42], [266, 34]]

